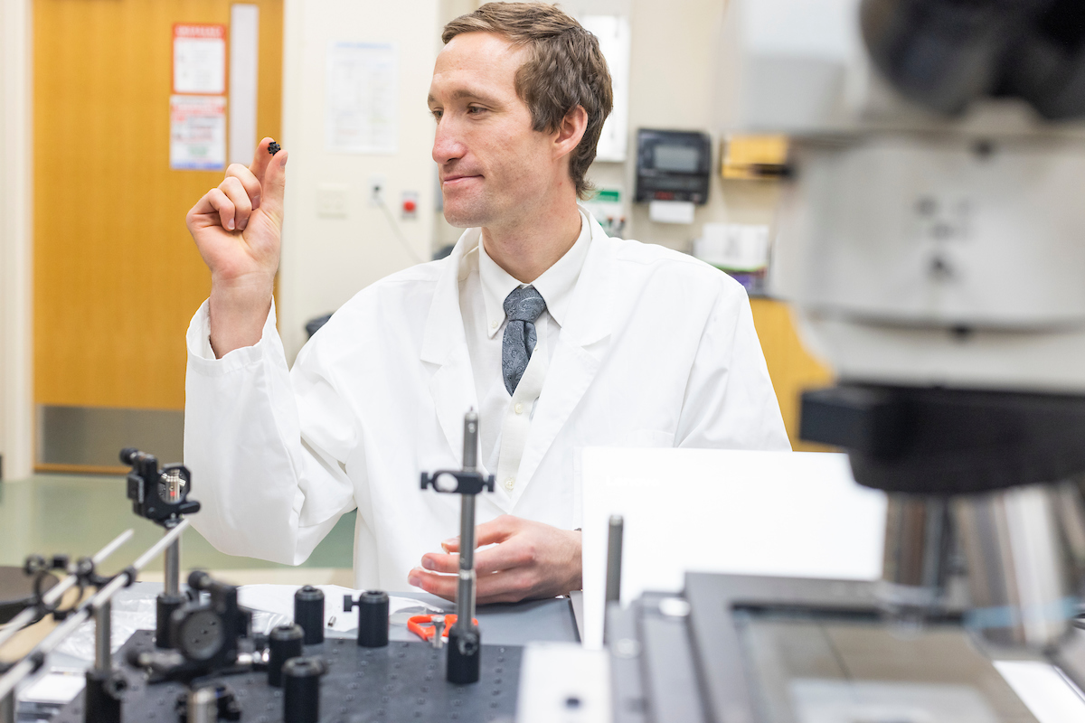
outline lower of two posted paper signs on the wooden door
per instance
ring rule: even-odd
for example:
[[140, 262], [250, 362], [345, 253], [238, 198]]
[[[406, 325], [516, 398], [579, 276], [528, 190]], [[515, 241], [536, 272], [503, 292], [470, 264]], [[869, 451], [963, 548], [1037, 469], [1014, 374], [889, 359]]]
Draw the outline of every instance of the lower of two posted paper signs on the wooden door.
[[169, 167], [175, 170], [226, 168], [226, 98], [169, 98]]

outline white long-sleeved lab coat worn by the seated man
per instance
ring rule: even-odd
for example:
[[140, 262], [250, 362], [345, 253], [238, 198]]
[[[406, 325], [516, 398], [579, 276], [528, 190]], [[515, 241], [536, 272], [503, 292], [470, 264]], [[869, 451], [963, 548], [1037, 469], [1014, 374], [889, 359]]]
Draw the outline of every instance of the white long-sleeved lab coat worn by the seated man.
[[[790, 449], [743, 288], [590, 223], [515, 488], [481, 494], [478, 522], [580, 527], [584, 447]], [[299, 564], [357, 506], [356, 585], [406, 590], [458, 533], [459, 496], [422, 491], [419, 473], [460, 467], [463, 414], [478, 409], [457, 280], [478, 235], [358, 293], [293, 370], [273, 309], [258, 344], [204, 358], [204, 304], [188, 333], [184, 462], [212, 544]]]

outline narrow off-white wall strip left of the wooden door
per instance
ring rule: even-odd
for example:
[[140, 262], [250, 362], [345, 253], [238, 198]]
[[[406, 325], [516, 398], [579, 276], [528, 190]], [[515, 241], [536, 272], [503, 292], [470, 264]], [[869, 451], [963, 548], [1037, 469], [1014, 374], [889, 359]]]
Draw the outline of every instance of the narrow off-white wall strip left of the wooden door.
[[[0, 454], [30, 474], [30, 0], [0, 2]], [[74, 158], [75, 159], [75, 158]]]

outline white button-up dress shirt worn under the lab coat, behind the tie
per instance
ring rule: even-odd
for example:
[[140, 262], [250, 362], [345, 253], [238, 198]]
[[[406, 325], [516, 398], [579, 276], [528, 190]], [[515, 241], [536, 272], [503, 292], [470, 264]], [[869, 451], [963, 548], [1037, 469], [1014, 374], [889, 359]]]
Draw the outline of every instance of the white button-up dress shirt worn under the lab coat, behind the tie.
[[[582, 215], [576, 242], [531, 284], [520, 283], [499, 267], [486, 253], [481, 237], [460, 262], [460, 311], [478, 395], [480, 460], [484, 469], [496, 474], [498, 483], [510, 492], [515, 489], [535, 405], [558, 347], [561, 320], [591, 244], [588, 229]], [[505, 299], [522, 286], [534, 286], [546, 301], [546, 310], [535, 320], [535, 350], [520, 384], [510, 395], [501, 370], [501, 347], [508, 326]]]

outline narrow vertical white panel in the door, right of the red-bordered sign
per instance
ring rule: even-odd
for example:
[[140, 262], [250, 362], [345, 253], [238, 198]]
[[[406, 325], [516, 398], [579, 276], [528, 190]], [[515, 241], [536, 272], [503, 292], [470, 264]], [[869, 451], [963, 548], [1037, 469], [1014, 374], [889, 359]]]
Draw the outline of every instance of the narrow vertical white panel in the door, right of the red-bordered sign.
[[256, 147], [256, 83], [259, 66], [260, 9], [256, 5], [230, 5], [230, 122], [231, 164], [253, 162]]

